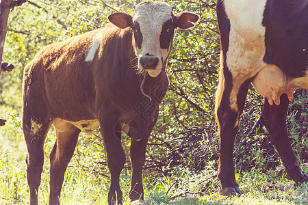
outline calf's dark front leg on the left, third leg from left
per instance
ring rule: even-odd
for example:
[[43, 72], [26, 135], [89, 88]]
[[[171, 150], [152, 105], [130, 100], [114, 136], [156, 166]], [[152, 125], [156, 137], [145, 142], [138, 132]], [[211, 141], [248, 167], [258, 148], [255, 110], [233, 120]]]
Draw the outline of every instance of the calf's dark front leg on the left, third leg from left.
[[107, 164], [111, 183], [108, 193], [108, 204], [122, 204], [123, 194], [120, 190], [120, 172], [125, 164], [125, 152], [120, 140], [121, 124], [116, 113], [111, 111], [99, 114], [101, 133], [107, 153]]

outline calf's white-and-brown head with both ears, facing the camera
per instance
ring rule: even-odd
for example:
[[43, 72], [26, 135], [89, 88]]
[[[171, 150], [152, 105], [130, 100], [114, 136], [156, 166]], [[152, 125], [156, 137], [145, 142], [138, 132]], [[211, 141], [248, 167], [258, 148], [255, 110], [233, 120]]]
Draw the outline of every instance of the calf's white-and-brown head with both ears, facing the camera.
[[117, 12], [108, 17], [117, 27], [132, 29], [138, 68], [151, 77], [157, 77], [166, 66], [175, 29], [194, 27], [199, 18], [191, 12], [175, 15], [172, 8], [162, 1], [144, 1], [136, 5], [133, 16]]

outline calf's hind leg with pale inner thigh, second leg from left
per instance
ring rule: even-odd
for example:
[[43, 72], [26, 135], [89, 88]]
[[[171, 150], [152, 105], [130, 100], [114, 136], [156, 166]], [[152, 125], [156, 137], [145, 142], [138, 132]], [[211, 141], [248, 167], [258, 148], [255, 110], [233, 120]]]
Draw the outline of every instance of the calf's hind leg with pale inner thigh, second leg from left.
[[80, 130], [61, 119], [53, 123], [57, 139], [49, 155], [50, 159], [50, 192], [49, 204], [60, 204], [60, 193], [66, 167], [72, 157]]

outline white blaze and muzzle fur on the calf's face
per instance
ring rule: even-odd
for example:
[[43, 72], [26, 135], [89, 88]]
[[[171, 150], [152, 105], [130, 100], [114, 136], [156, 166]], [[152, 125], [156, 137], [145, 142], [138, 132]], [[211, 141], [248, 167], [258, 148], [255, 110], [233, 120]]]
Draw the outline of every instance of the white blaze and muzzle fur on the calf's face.
[[[159, 63], [155, 70], [147, 70], [151, 77], [157, 77], [162, 70], [161, 57], [165, 60], [170, 51], [169, 49], [161, 49], [159, 36], [162, 33], [162, 25], [170, 20], [172, 14], [172, 6], [162, 1], [147, 2], [136, 5], [135, 16], [133, 21], [138, 22], [142, 33], [141, 49], [136, 49], [138, 57], [142, 57], [146, 53], [159, 58]], [[142, 66], [138, 64], [138, 68]]]

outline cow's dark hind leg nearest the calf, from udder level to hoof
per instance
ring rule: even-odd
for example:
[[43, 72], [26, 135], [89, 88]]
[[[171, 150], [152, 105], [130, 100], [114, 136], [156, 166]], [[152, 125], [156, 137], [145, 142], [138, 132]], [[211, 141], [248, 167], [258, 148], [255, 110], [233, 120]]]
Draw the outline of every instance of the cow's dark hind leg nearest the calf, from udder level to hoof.
[[251, 79], [244, 82], [231, 81], [232, 76], [229, 71], [225, 71], [220, 78], [216, 92], [216, 122], [220, 138], [218, 178], [221, 182], [222, 194], [240, 195], [242, 192], [235, 181], [233, 146], [238, 131], [238, 120], [244, 107]]

